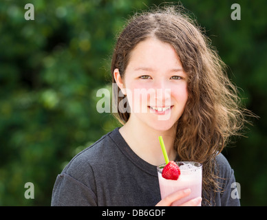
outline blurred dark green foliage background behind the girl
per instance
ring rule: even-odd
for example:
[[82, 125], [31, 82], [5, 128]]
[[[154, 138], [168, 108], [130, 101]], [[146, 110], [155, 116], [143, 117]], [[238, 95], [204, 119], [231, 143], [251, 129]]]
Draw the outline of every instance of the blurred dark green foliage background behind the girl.
[[[26, 21], [26, 3], [34, 21]], [[0, 206], [50, 206], [56, 175], [76, 153], [120, 126], [98, 113], [96, 91], [111, 85], [116, 34], [133, 12], [162, 1], [0, 2]], [[231, 20], [231, 5], [241, 20]], [[248, 109], [261, 117], [224, 151], [244, 206], [267, 205], [266, 1], [188, 0], [228, 65]], [[25, 199], [24, 184], [34, 184]]]

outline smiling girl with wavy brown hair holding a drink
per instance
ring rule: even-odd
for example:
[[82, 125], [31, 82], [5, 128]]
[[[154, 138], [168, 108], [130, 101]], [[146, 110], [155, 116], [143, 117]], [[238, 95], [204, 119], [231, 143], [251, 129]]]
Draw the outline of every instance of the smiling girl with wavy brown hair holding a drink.
[[56, 179], [52, 206], [171, 206], [188, 196], [160, 198], [160, 135], [170, 160], [202, 164], [202, 197], [183, 206], [239, 206], [221, 151], [242, 128], [244, 111], [197, 25], [172, 7], [137, 14], [118, 36], [111, 74], [123, 126], [71, 160]]

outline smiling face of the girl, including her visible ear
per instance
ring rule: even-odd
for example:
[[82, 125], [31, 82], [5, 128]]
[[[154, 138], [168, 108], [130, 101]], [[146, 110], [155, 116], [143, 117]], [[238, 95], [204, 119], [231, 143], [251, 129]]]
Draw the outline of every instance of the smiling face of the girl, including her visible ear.
[[131, 52], [123, 78], [118, 71], [114, 77], [127, 95], [129, 121], [159, 131], [171, 129], [188, 98], [187, 74], [173, 47], [158, 39], [141, 41]]

